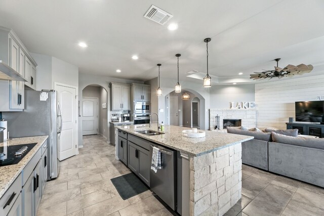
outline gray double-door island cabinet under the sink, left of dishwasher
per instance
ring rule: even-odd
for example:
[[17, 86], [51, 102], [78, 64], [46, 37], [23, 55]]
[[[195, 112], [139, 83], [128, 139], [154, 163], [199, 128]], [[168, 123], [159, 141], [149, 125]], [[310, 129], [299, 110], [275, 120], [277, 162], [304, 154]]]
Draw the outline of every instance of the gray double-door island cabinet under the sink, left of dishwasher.
[[150, 186], [150, 153], [128, 141], [128, 167], [148, 186]]

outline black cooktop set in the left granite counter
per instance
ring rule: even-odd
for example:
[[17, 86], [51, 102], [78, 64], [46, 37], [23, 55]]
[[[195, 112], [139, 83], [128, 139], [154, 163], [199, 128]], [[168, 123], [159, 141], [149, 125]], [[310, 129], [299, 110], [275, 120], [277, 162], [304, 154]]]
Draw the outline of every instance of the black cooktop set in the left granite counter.
[[[19, 163], [19, 161], [36, 145], [37, 143], [28, 143], [22, 145], [0, 147], [0, 166], [7, 166]], [[6, 151], [6, 150], [5, 150]]]

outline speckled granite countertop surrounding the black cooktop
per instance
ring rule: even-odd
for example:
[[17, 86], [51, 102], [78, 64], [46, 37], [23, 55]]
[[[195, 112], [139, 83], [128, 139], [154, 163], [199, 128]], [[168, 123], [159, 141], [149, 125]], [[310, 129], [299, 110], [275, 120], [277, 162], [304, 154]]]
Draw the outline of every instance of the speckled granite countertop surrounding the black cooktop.
[[[37, 143], [37, 144], [22, 158], [21, 161], [19, 161], [19, 163], [8, 165], [8, 166], [0, 166], [0, 197], [2, 197], [5, 194], [8, 188], [19, 176], [20, 172], [31, 160], [31, 158], [38, 151], [38, 149], [41, 148], [41, 146], [44, 144], [47, 138], [48, 136], [23, 137], [23, 138], [15, 138], [4, 142], [7, 143], [8, 146], [22, 145], [28, 143]], [[0, 143], [0, 147], [3, 147], [4, 143]]]

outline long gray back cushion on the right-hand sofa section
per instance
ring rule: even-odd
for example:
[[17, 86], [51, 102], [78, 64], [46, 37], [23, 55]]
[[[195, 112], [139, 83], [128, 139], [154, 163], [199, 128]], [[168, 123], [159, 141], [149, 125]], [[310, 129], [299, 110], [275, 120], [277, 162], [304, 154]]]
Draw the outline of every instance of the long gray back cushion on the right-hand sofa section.
[[324, 150], [323, 138], [292, 137], [271, 132], [274, 142]]

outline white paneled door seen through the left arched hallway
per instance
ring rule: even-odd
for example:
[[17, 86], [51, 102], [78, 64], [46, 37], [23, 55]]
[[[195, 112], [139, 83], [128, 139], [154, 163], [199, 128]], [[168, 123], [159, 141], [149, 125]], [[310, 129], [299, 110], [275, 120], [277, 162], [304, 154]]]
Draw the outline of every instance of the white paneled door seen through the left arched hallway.
[[83, 135], [98, 134], [98, 98], [82, 99]]

